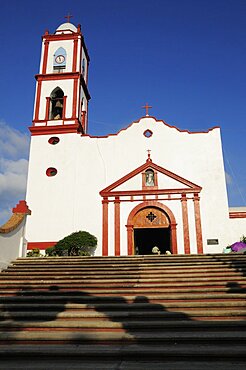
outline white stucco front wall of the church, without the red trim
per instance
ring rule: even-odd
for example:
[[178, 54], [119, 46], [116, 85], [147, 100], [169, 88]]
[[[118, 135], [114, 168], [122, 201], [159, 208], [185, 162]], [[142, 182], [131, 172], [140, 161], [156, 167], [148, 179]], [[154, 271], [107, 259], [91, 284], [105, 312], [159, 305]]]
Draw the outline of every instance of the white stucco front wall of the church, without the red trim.
[[[143, 133], [153, 132], [150, 138]], [[58, 241], [73, 231], [87, 230], [96, 235], [101, 254], [102, 204], [99, 192], [130, 171], [145, 163], [151, 150], [154, 163], [202, 187], [200, 194], [201, 222], [205, 252], [221, 252], [228, 244], [228, 202], [221, 150], [220, 130], [207, 133], [180, 132], [163, 121], [145, 117], [117, 135], [106, 138], [56, 135], [57, 145], [50, 145], [48, 135], [31, 140], [27, 202], [32, 217], [27, 222], [26, 238], [31, 242]], [[55, 167], [55, 177], [47, 177], [48, 167]], [[165, 179], [161, 179], [165, 186]], [[170, 179], [166, 179], [168, 184]], [[139, 187], [136, 178], [124, 184], [131, 190]], [[170, 183], [168, 184], [170, 186]], [[177, 219], [179, 252], [184, 250], [180, 201], [164, 201]], [[137, 202], [121, 205], [121, 245], [126, 254], [126, 221]], [[113, 206], [109, 207], [109, 251], [114, 250]], [[188, 200], [191, 252], [196, 252], [193, 200]], [[236, 222], [234, 222], [236, 224]], [[207, 239], [219, 244], [207, 246]]]

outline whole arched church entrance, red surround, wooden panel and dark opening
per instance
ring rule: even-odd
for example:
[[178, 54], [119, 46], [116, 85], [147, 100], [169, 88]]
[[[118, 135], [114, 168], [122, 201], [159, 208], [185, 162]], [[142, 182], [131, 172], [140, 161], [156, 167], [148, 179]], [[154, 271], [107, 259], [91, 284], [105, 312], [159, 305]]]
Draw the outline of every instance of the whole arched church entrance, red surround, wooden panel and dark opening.
[[171, 210], [153, 201], [135, 207], [127, 223], [128, 254], [152, 254], [158, 247], [177, 253], [176, 221]]

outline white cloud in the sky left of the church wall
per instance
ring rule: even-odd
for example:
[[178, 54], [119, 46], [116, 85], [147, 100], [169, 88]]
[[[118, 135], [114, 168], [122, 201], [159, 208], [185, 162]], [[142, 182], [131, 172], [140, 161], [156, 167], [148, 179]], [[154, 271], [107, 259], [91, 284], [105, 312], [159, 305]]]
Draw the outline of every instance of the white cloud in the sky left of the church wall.
[[25, 199], [28, 151], [28, 135], [0, 121], [0, 225]]

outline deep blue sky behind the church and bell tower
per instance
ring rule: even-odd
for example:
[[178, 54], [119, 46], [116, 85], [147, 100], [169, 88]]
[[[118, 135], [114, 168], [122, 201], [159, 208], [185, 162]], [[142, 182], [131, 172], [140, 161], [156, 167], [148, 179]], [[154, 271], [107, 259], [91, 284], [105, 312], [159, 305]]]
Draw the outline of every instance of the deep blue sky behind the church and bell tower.
[[41, 35], [68, 12], [91, 58], [89, 133], [117, 132], [146, 102], [180, 129], [219, 125], [229, 204], [246, 206], [245, 0], [9, 0], [1, 1], [0, 223], [25, 197]]

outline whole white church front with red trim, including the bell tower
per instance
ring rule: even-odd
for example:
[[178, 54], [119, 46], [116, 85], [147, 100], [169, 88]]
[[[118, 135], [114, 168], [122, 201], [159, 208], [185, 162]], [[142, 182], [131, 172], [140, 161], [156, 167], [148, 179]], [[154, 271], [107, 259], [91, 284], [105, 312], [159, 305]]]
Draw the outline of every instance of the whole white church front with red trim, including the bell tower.
[[218, 253], [246, 233], [229, 210], [219, 127], [189, 132], [148, 114], [116, 134], [87, 132], [89, 55], [80, 27], [43, 36], [27, 184], [27, 248], [72, 232], [96, 255]]

